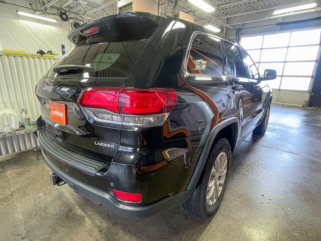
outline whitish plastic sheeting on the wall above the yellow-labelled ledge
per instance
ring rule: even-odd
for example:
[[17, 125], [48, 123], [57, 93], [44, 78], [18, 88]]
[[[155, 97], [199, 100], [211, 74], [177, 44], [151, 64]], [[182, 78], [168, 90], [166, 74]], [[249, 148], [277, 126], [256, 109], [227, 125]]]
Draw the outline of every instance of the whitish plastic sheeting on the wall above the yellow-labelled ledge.
[[61, 43], [66, 51], [72, 48], [67, 39], [69, 30], [50, 25], [0, 16], [0, 50], [23, 50], [36, 53], [42, 49], [61, 55]]

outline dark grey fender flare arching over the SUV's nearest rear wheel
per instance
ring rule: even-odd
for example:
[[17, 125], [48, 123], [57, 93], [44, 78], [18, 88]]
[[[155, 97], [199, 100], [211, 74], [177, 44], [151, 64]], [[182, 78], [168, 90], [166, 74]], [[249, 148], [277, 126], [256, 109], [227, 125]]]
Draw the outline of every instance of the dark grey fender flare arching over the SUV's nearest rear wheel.
[[195, 189], [195, 186], [196, 186], [201, 174], [203, 173], [203, 169], [204, 169], [207, 157], [210, 154], [214, 139], [217, 136], [217, 134], [224, 127], [227, 127], [228, 125], [233, 124], [233, 123], [235, 125], [235, 129], [234, 129], [234, 131], [235, 131], [234, 134], [235, 135], [234, 135], [234, 145], [233, 145], [233, 147], [231, 147], [231, 152], [232, 153], [234, 152], [235, 147], [237, 145], [237, 140], [238, 140], [238, 137], [239, 137], [239, 119], [237, 117], [231, 117], [231, 118], [229, 118], [227, 120], [224, 120], [224, 121], [218, 123], [212, 129], [212, 131], [210, 132], [210, 134], [207, 137], [207, 140], [205, 142], [205, 145], [204, 145], [204, 148], [202, 150], [202, 153], [201, 153], [201, 155], [200, 155], [200, 157], [198, 159], [198, 162], [196, 164], [194, 173], [193, 173], [193, 175], [192, 175], [192, 177], [191, 177], [191, 179], [190, 179], [190, 181], [189, 181], [189, 183], [187, 185], [187, 188], [186, 188], [187, 191], [192, 191], [192, 190]]

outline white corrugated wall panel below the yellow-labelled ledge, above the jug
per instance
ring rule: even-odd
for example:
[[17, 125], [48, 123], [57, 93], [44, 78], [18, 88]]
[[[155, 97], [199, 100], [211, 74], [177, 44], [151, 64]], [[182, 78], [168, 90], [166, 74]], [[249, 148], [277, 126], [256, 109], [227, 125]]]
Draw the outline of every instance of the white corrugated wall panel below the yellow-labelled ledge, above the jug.
[[[57, 61], [52, 58], [33, 58], [0, 55], [0, 109], [24, 108], [33, 120], [40, 116], [35, 85]], [[19, 115], [22, 121], [22, 115]]]

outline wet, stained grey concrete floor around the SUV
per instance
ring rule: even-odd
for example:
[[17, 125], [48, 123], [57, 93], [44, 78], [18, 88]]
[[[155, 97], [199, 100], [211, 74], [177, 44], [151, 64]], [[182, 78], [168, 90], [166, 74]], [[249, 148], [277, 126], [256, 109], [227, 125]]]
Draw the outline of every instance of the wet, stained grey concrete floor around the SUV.
[[39, 149], [0, 158], [0, 240], [321, 240], [321, 110], [273, 105], [263, 137], [232, 156], [217, 214], [197, 221], [173, 208], [122, 219], [51, 186]]

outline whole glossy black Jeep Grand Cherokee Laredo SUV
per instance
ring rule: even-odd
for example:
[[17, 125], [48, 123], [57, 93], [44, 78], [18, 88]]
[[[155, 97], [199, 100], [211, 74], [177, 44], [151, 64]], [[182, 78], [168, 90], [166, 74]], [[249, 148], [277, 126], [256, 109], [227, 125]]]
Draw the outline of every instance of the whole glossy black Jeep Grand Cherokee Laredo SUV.
[[272, 91], [237, 43], [198, 24], [128, 12], [72, 30], [36, 86], [51, 182], [126, 218], [223, 198], [231, 154], [264, 134]]

